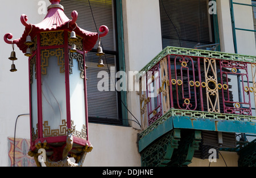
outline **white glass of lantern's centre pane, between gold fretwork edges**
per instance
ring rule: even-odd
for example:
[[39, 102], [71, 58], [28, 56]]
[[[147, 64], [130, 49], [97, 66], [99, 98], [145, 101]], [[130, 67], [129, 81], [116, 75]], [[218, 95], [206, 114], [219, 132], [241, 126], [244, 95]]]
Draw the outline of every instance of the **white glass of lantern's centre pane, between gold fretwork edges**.
[[48, 67], [45, 68], [47, 73], [42, 74], [43, 124], [48, 121], [51, 130], [59, 129], [63, 125], [61, 121], [67, 121], [65, 73], [60, 73], [56, 56], [48, 57]]

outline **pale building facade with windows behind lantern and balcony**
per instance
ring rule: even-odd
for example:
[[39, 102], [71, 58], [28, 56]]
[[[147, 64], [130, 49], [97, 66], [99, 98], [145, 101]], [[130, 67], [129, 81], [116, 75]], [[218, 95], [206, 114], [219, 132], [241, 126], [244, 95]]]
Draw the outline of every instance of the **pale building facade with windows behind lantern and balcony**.
[[[234, 56], [234, 59], [237, 59], [236, 54], [243, 55], [242, 58], [248, 56], [252, 60], [256, 58], [255, 1], [62, 0], [60, 4], [64, 6], [64, 13], [69, 19], [71, 19], [71, 12], [77, 10], [79, 13], [77, 24], [85, 30], [97, 32], [101, 25], [109, 27], [109, 34], [102, 38], [101, 44], [106, 54], [104, 57], [105, 67], [97, 68], [98, 58], [95, 55], [97, 45], [85, 57], [85, 63], [88, 66], [86, 69], [86, 77], [88, 78], [88, 129], [89, 140], [93, 145], [92, 152], [85, 158], [84, 166], [87, 167], [155, 165], [148, 161], [145, 163], [142, 155], [143, 150], [152, 144], [158, 144], [159, 139], [163, 138], [162, 136], [166, 133], [154, 136], [155, 133], [152, 132], [151, 136], [145, 137], [147, 138], [146, 141], [143, 140], [142, 133], [147, 131], [151, 125], [151, 123], [148, 124], [148, 118], [151, 116], [144, 117], [144, 113], [141, 113], [142, 100], [137, 72], [146, 69], [145, 66], [148, 64], [151, 67], [155, 66], [155, 64], [152, 65], [152, 60], [156, 60], [162, 51], [166, 52], [164, 49], [175, 49], [179, 52], [181, 49], [195, 49], [195, 51], [202, 49], [212, 51], [209, 52], [210, 55], [217, 51]], [[37, 24], [46, 16], [49, 5], [51, 5], [49, 1], [39, 0], [2, 2], [0, 7], [3, 16], [2, 37], [11, 32], [14, 35], [13, 39], [20, 38], [24, 31], [24, 26], [20, 23], [20, 15], [26, 14], [28, 23]], [[11, 13], [10, 9], [12, 9]], [[8, 57], [11, 47], [3, 40], [0, 43], [2, 54], [0, 65], [0, 147], [2, 159], [0, 159], [0, 165], [33, 166], [35, 165], [34, 160], [27, 155], [30, 146], [30, 117], [28, 115], [30, 112], [28, 88], [30, 71], [28, 59], [15, 46], [16, 57], [19, 59], [15, 61], [18, 71], [10, 72], [11, 63]], [[170, 53], [167, 54], [170, 55]], [[178, 55], [184, 54], [179, 53]], [[251, 65], [255, 63], [255, 61], [248, 62]], [[177, 74], [175, 75], [177, 76]], [[250, 80], [251, 86], [253, 83], [251, 74], [247, 80]], [[247, 87], [250, 89], [249, 86]], [[241, 91], [233, 90], [232, 92], [233, 98], [239, 99], [238, 96]], [[235, 139], [244, 141], [246, 144], [255, 139], [253, 136], [256, 134], [255, 125], [253, 125], [256, 122], [253, 102], [255, 96], [252, 94], [250, 96], [250, 111], [247, 115], [250, 115], [248, 123], [252, 123], [251, 127], [248, 127], [249, 129], [246, 127], [247, 130], [245, 129], [243, 133], [240, 133], [241, 129], [231, 131], [228, 129], [228, 124], [225, 127], [224, 123], [224, 129], [222, 131], [215, 130], [216, 133], [236, 133]], [[246, 105], [246, 101], [237, 103]], [[192, 104], [192, 101], [187, 100], [188, 104], [189, 102]], [[172, 106], [169, 106], [168, 109], [174, 108], [175, 104], [171, 102]], [[221, 106], [218, 106], [218, 109], [221, 109]], [[153, 110], [147, 110], [147, 112], [152, 111], [153, 113]], [[242, 125], [238, 123], [237, 128], [240, 127]], [[185, 127], [180, 126], [176, 129], [183, 130]], [[210, 131], [209, 129], [201, 130]], [[14, 133], [15, 163], [13, 161]], [[200, 133], [199, 140], [201, 136]], [[244, 136], [247, 140], [243, 139]], [[186, 165], [209, 166], [210, 163], [211, 166], [238, 166], [238, 160], [241, 156], [237, 151], [220, 149], [220, 153], [216, 162], [210, 163], [209, 155], [202, 159], [193, 152]], [[255, 160], [253, 162], [255, 164]]]

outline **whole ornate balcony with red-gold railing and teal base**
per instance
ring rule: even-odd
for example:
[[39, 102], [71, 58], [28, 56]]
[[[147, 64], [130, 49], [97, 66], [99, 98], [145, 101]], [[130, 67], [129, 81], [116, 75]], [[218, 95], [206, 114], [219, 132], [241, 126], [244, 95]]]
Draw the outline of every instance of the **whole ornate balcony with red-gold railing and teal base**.
[[188, 165], [256, 134], [256, 56], [166, 47], [138, 78], [142, 166]]

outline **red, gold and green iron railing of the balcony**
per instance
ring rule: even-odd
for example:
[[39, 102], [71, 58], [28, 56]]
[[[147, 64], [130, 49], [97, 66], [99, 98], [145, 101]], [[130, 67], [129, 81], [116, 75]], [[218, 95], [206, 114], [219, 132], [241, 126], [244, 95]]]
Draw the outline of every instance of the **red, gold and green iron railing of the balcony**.
[[256, 56], [166, 47], [138, 78], [141, 136], [171, 116], [256, 122]]

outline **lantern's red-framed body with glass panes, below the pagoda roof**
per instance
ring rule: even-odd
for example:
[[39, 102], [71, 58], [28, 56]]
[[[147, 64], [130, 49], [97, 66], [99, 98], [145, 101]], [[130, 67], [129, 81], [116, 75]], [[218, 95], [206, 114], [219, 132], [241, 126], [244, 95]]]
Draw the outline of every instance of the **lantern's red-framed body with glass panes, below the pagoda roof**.
[[[90, 145], [86, 103], [85, 51], [82, 38], [78, 50], [70, 52], [69, 31], [36, 34], [36, 49], [29, 58], [31, 151], [47, 143], [49, 152], [62, 152], [67, 129], [72, 130], [75, 154]], [[39, 143], [39, 145], [38, 145]], [[52, 160], [59, 161], [62, 155]], [[51, 156], [51, 154], [48, 154]]]

